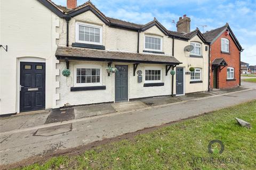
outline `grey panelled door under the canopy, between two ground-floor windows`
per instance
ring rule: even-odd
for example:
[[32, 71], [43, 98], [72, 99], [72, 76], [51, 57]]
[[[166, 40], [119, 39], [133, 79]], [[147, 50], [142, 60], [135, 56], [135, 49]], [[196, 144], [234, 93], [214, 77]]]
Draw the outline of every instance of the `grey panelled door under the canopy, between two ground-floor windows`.
[[128, 100], [128, 66], [115, 65], [115, 101]]

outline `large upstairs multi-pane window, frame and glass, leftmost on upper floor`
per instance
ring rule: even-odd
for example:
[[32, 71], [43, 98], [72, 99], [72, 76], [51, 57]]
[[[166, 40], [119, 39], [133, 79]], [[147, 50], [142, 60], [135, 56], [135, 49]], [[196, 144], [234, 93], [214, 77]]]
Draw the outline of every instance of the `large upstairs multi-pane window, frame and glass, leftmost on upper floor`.
[[77, 22], [76, 43], [102, 45], [102, 27], [99, 25]]

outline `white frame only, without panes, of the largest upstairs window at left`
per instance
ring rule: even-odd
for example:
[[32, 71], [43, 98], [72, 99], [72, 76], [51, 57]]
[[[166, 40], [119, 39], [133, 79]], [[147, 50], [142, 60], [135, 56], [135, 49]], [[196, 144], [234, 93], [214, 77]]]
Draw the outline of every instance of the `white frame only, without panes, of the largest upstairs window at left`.
[[[100, 43], [79, 40], [79, 25], [84, 26], [84, 27], [91, 27], [91, 28], [100, 29]], [[83, 23], [83, 22], [76, 22], [76, 43], [102, 45], [102, 26], [89, 24], [89, 23]]]

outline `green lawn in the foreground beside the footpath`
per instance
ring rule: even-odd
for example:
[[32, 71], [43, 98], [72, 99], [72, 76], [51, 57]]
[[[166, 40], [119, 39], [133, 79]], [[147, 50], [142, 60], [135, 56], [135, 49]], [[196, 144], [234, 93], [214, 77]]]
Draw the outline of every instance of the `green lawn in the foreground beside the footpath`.
[[[235, 117], [250, 122], [253, 128], [239, 126]], [[222, 154], [208, 153], [207, 145], [214, 139], [223, 142]], [[255, 139], [256, 100], [140, 134], [134, 140], [18, 169], [255, 169]], [[194, 157], [239, 157], [241, 163], [193, 163]]]

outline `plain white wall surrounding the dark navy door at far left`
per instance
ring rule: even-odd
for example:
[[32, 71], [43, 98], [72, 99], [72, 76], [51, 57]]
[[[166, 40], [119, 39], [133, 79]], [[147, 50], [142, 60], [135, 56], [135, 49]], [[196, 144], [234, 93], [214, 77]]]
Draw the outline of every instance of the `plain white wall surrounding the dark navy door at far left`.
[[[55, 107], [59, 18], [36, 0], [0, 1], [0, 114], [19, 112], [19, 61], [46, 62], [46, 109]], [[26, 58], [27, 57], [27, 58]], [[33, 57], [33, 59], [31, 59]]]

